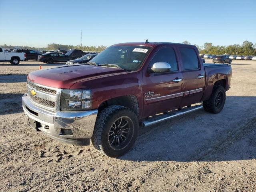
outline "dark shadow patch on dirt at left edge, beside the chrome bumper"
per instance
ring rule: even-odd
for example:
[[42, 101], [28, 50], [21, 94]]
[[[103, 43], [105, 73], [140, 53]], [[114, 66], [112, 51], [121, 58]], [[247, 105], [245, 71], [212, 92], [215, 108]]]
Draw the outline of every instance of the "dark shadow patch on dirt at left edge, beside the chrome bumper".
[[23, 111], [21, 98], [22, 93], [0, 94], [0, 115], [15, 114]]

